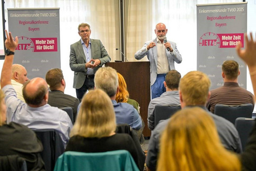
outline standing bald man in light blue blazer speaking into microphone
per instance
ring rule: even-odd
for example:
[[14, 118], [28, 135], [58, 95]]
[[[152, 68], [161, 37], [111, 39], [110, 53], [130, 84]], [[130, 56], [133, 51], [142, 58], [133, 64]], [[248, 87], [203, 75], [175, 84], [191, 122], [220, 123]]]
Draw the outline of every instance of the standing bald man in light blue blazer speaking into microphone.
[[166, 26], [163, 23], [156, 25], [157, 38], [147, 41], [144, 46], [135, 53], [135, 59], [140, 60], [145, 55], [150, 61], [150, 86], [151, 98], [160, 97], [165, 92], [163, 81], [166, 73], [174, 70], [174, 62], [181, 63], [182, 58], [176, 47], [176, 43], [166, 40]]

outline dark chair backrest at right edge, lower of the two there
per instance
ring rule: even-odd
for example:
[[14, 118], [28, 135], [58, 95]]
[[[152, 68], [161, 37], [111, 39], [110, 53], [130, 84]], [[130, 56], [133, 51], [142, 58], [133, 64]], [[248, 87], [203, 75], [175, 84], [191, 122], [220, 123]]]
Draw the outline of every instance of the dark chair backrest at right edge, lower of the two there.
[[252, 118], [237, 118], [235, 122], [235, 127], [238, 130], [241, 143], [242, 143], [242, 149], [244, 151], [245, 145], [247, 143], [247, 140], [249, 138], [249, 135], [254, 127], [255, 119]]

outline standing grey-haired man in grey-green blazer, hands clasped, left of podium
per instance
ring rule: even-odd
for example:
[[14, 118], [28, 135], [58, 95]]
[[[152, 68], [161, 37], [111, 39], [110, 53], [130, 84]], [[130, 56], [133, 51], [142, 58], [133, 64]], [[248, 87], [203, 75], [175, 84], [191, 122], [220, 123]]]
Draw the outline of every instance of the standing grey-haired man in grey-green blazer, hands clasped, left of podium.
[[70, 46], [69, 66], [74, 71], [73, 88], [81, 101], [83, 94], [94, 88], [94, 74], [111, 58], [100, 40], [90, 39], [91, 27], [87, 23], [78, 26], [81, 39]]

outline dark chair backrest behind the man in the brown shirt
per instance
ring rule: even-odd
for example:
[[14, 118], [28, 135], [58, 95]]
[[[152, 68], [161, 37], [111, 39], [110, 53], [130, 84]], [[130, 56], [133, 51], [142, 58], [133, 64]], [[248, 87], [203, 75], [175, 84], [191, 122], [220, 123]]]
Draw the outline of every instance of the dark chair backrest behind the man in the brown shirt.
[[214, 107], [214, 114], [224, 117], [235, 124], [236, 119], [239, 117], [252, 118], [253, 104], [242, 104], [238, 106], [217, 104]]

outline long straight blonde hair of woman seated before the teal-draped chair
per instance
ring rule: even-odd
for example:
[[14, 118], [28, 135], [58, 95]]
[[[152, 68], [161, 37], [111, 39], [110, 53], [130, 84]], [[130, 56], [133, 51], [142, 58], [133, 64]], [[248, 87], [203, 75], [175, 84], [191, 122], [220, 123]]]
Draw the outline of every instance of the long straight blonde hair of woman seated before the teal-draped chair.
[[100, 89], [90, 90], [82, 98], [70, 137], [107, 137], [115, 129], [115, 113], [110, 97]]

